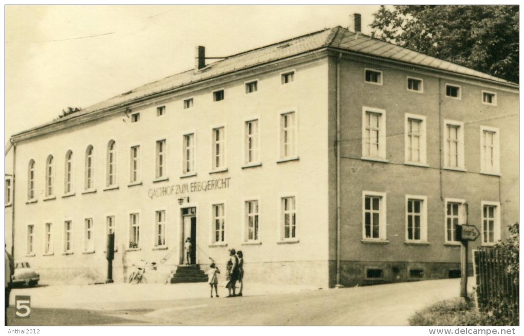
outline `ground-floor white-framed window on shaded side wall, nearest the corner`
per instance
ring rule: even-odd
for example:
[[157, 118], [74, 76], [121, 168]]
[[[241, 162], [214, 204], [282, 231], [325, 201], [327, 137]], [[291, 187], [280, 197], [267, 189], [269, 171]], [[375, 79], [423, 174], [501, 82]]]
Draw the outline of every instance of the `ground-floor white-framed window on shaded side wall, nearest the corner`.
[[386, 193], [363, 192], [363, 239], [386, 239]]

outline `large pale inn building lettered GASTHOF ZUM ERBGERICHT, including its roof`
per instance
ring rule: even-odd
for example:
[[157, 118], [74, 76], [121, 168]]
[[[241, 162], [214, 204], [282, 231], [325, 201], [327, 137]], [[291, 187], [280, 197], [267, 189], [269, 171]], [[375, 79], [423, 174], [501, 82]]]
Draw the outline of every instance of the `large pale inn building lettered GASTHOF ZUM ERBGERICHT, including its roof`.
[[518, 220], [516, 84], [342, 27], [198, 51], [14, 135], [15, 259], [103, 280], [114, 233], [115, 281], [144, 260], [165, 280], [189, 237], [203, 267], [243, 250], [246, 281], [353, 286], [456, 276], [455, 224], [492, 245]]

